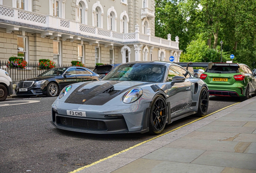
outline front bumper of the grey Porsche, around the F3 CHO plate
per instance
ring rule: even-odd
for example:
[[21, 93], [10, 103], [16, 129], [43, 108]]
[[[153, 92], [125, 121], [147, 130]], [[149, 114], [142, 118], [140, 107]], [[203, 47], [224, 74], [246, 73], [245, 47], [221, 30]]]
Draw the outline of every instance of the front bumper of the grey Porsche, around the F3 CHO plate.
[[[62, 102], [63, 103], [63, 102]], [[63, 105], [66, 105], [64, 103]], [[128, 106], [94, 106], [74, 105], [77, 109], [52, 109], [52, 125], [58, 129], [83, 133], [146, 133], [148, 128], [149, 103], [142, 104], [132, 111]], [[134, 106], [134, 105], [133, 105]], [[69, 106], [70, 107], [70, 106]], [[73, 107], [73, 108], [74, 108]], [[84, 107], [83, 109], [81, 107]], [[86, 109], [86, 107], [88, 109]], [[90, 109], [89, 109], [90, 107]], [[70, 116], [66, 110], [85, 111], [86, 117]], [[102, 110], [102, 111], [99, 111]], [[119, 115], [119, 117], [106, 117], [106, 115]]]

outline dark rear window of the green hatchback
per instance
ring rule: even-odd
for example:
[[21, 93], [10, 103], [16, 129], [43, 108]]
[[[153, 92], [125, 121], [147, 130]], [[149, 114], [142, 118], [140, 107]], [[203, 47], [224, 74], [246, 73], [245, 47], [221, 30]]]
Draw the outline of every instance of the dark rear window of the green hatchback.
[[221, 74], [227, 74], [227, 73], [239, 73], [238, 66], [213, 66], [211, 69], [206, 69], [205, 72], [210, 73], [221, 73]]

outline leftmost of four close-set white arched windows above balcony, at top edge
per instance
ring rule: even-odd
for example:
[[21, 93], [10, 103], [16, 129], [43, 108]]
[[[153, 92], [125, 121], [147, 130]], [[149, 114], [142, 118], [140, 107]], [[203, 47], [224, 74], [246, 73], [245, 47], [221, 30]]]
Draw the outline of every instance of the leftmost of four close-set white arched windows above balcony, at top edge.
[[87, 24], [87, 10], [86, 0], [76, 0], [76, 22]]

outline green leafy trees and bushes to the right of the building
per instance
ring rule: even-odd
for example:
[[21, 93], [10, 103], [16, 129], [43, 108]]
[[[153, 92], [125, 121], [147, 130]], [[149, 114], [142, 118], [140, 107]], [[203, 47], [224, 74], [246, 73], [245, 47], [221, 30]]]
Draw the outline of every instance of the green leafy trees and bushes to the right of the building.
[[180, 37], [181, 61], [220, 62], [223, 40], [223, 62], [256, 67], [255, 0], [155, 0], [155, 16], [156, 36]]

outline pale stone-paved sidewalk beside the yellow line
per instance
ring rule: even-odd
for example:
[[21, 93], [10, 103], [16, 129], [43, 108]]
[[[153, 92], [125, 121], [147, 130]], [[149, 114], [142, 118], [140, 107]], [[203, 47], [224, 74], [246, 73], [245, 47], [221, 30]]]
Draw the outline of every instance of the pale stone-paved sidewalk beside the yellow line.
[[256, 173], [256, 97], [79, 173]]

